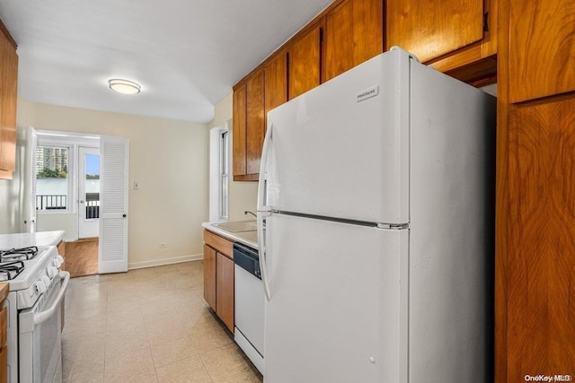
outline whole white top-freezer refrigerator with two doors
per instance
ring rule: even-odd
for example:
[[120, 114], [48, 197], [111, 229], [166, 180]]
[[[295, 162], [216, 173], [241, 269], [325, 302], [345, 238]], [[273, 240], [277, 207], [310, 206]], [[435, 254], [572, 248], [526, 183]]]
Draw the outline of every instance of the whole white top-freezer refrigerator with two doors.
[[270, 111], [264, 382], [492, 381], [495, 115], [400, 48]]

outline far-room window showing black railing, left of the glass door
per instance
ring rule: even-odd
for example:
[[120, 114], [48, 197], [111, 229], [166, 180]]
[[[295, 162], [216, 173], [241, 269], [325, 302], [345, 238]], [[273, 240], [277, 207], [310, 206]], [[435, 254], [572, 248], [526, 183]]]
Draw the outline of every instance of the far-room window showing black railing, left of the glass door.
[[70, 210], [71, 183], [68, 176], [70, 148], [38, 146], [36, 149], [36, 210]]

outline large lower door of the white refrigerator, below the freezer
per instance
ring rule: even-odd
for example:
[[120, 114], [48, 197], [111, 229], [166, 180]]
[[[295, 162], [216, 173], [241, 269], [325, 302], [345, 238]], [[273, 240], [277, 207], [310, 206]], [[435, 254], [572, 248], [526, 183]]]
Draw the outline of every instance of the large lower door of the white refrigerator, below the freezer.
[[408, 236], [268, 218], [265, 382], [407, 381]]

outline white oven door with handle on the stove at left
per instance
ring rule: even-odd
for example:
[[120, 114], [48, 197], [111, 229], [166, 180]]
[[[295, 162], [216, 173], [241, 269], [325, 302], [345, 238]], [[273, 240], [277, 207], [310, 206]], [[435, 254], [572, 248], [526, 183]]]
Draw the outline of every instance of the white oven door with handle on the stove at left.
[[55, 279], [31, 309], [24, 309], [19, 313], [21, 382], [61, 381], [61, 304], [70, 274], [60, 271], [59, 278]]

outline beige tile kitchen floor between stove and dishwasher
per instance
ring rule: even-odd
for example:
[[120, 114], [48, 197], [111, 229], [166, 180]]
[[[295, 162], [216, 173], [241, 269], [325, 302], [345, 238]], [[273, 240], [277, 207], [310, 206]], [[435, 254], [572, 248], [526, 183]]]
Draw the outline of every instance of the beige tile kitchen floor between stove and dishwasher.
[[202, 297], [201, 261], [72, 279], [64, 382], [261, 382]]

